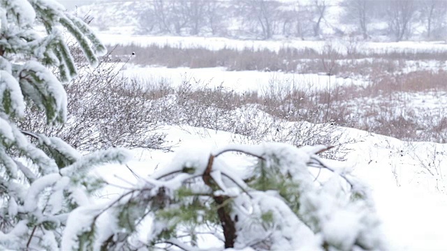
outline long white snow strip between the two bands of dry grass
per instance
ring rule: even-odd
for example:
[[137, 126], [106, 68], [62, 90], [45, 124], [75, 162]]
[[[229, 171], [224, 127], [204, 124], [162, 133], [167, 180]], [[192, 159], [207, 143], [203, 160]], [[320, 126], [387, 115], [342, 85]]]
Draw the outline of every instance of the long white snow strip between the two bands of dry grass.
[[343, 85], [365, 86], [366, 82], [336, 77], [334, 75], [294, 74], [278, 72], [227, 71], [225, 68], [165, 68], [129, 67], [122, 71], [125, 77], [147, 79], [149, 82], [163, 80], [173, 87], [187, 81], [197, 86], [210, 88], [221, 86], [229, 91], [244, 93], [267, 89], [270, 84], [281, 83], [283, 87], [295, 86], [300, 90], [328, 90]]

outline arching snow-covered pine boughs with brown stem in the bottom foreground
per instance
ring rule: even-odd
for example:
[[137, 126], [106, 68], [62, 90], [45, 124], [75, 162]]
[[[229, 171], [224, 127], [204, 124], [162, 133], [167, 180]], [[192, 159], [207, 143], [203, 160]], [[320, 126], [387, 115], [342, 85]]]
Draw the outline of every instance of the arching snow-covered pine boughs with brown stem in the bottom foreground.
[[[68, 218], [62, 248], [200, 250], [203, 237], [217, 243], [212, 250], [386, 249], [368, 191], [315, 155], [325, 149], [265, 143], [179, 150], [170, 165], [103, 210], [77, 209], [93, 213]], [[256, 164], [229, 165], [230, 151]], [[315, 178], [316, 165], [326, 170], [324, 179]], [[149, 236], [140, 236], [147, 228]]]

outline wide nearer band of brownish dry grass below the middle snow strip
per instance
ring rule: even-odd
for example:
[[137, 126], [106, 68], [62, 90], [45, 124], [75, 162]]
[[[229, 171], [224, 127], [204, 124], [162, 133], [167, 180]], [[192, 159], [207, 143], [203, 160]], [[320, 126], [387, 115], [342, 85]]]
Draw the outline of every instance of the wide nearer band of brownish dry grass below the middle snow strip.
[[[265, 89], [243, 94], [191, 82], [184, 82], [178, 89], [167, 87], [163, 82], [140, 84], [152, 86], [149, 99], [175, 96], [175, 105], [171, 102], [171, 107], [159, 109], [165, 118], [163, 121], [170, 124], [226, 130], [250, 135], [258, 141], [272, 135], [271, 128], [284, 130], [284, 124], [267, 117], [260, 122], [256, 117], [259, 109], [281, 121], [346, 126], [398, 139], [444, 143], [447, 119], [434, 117], [430, 111], [417, 112], [411, 107], [411, 100], [401, 93], [447, 93], [446, 77], [444, 71], [419, 71], [383, 77], [365, 87], [337, 86], [323, 91], [303, 91], [298, 86], [272, 81]], [[245, 119], [241, 120], [242, 115]]]

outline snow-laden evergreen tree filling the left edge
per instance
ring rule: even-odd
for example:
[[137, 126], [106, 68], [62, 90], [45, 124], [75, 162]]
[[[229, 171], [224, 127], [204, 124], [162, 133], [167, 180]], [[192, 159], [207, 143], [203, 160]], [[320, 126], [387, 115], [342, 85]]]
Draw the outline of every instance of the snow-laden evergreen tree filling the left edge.
[[92, 66], [106, 50], [87, 24], [54, 1], [0, 0], [0, 26], [0, 249], [59, 250], [68, 214], [101, 187], [89, 169], [124, 162], [129, 154], [112, 149], [82, 156], [61, 139], [20, 130], [15, 121], [35, 105], [49, 125], [64, 123], [61, 83], [77, 72], [63, 29]]

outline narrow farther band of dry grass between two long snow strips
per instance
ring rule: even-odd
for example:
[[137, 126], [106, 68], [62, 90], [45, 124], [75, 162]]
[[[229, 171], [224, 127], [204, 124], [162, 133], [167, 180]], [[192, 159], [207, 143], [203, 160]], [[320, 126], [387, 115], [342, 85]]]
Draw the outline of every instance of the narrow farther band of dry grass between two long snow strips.
[[[112, 48], [110, 48], [112, 50]], [[349, 53], [342, 53], [347, 50]], [[447, 52], [375, 52], [332, 46], [323, 47], [322, 52], [312, 49], [298, 50], [282, 48], [270, 50], [207, 50], [203, 48], [177, 48], [149, 45], [117, 46], [112, 55], [127, 58], [135, 52], [133, 63], [140, 65], [166, 66], [169, 68], [226, 67], [228, 70], [282, 71], [286, 73], [325, 73], [328, 75], [371, 75], [402, 71], [406, 61], [434, 60], [444, 63]]]

